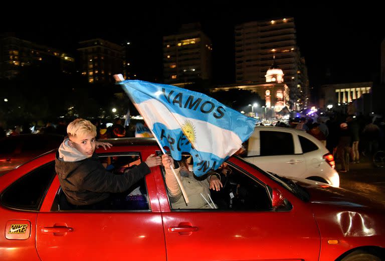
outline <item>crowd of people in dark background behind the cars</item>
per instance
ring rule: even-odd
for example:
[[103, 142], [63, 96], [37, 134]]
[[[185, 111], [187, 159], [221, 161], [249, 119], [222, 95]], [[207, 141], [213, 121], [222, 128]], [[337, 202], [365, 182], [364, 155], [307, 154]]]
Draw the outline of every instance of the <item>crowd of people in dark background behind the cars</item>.
[[[96, 126], [96, 139], [114, 139], [125, 137], [153, 137], [143, 121], [124, 125], [120, 118], [107, 124], [100, 119], [91, 120]], [[56, 123], [56, 124], [54, 124]], [[289, 120], [275, 120], [275, 126], [291, 127], [309, 133], [318, 139], [341, 162], [340, 172], [349, 170], [349, 164], [358, 163], [360, 156], [371, 156], [379, 149], [385, 148], [385, 121], [383, 117], [355, 116], [334, 114], [328, 117], [301, 117]], [[0, 121], [0, 138], [19, 134], [58, 134], [67, 136], [67, 121], [43, 122], [15, 125], [6, 129]], [[261, 122], [261, 125], [263, 123]]]

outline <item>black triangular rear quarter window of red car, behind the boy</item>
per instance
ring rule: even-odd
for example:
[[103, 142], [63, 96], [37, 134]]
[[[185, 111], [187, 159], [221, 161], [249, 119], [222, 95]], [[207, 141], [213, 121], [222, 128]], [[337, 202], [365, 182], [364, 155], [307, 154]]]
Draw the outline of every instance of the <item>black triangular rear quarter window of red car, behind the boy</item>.
[[39, 210], [54, 177], [55, 162], [53, 161], [11, 184], [2, 193], [1, 203], [16, 209]]

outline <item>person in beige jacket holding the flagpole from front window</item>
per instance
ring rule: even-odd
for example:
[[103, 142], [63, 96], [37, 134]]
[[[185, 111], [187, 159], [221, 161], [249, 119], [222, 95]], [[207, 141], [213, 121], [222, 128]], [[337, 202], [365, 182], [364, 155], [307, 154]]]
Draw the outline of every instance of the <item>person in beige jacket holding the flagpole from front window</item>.
[[[209, 172], [203, 176], [203, 178], [197, 177], [193, 171], [189, 170], [186, 160], [174, 161], [170, 156], [165, 154], [162, 155], [162, 164], [165, 170], [168, 196], [173, 209], [217, 208], [217, 205], [215, 205], [211, 199], [210, 189], [219, 191], [222, 188], [219, 174]], [[186, 191], [189, 200], [187, 205], [171, 168], [174, 169]]]

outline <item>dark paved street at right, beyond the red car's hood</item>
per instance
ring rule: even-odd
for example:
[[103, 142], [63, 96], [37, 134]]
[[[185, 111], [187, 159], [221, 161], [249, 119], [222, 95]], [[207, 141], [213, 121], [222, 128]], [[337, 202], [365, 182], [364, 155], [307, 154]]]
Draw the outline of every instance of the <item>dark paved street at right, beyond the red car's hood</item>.
[[[350, 164], [350, 170], [339, 173], [340, 187], [382, 202], [385, 206], [385, 168], [375, 168], [368, 157]], [[336, 164], [336, 169], [340, 165]]]

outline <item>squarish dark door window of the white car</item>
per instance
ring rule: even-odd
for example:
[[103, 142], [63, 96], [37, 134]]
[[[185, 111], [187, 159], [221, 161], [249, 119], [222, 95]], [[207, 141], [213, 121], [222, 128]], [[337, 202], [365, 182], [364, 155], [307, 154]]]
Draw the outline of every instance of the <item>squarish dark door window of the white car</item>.
[[285, 132], [260, 131], [261, 156], [294, 154], [293, 135]]

